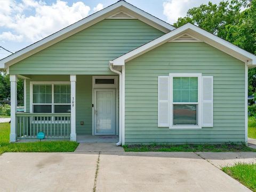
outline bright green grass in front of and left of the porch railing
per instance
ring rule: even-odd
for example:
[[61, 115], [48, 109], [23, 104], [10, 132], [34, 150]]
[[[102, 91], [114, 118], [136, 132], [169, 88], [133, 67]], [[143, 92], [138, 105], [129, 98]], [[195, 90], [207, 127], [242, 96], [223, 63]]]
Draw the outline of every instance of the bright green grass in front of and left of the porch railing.
[[37, 141], [10, 143], [10, 124], [0, 123], [0, 154], [5, 152], [73, 152], [78, 146], [74, 141]]

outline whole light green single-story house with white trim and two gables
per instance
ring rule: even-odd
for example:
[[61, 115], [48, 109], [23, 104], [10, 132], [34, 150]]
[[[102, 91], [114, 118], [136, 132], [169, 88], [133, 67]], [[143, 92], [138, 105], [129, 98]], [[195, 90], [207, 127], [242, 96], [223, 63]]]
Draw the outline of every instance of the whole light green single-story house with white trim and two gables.
[[[119, 135], [131, 143], [247, 142], [255, 55], [190, 23], [175, 29], [125, 1], [0, 61], [10, 141]], [[17, 77], [25, 113], [16, 113]]]

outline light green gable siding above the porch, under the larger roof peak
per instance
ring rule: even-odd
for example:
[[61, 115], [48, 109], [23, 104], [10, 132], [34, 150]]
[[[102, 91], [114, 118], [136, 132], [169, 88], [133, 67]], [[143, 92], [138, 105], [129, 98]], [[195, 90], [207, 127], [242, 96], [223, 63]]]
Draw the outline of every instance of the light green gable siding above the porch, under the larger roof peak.
[[10, 74], [115, 75], [109, 60], [163, 35], [136, 19], [105, 19], [10, 67]]

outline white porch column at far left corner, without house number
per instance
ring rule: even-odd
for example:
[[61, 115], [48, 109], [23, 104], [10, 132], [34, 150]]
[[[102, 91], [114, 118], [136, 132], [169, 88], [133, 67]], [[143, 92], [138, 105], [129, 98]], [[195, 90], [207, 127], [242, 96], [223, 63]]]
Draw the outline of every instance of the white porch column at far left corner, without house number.
[[10, 75], [11, 82], [11, 133], [10, 142], [17, 141], [16, 111], [17, 111], [17, 75]]

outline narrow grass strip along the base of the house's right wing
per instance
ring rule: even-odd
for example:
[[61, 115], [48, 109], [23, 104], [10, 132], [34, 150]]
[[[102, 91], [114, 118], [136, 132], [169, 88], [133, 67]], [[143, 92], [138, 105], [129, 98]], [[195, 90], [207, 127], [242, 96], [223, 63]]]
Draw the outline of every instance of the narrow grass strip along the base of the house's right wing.
[[196, 152], [196, 151], [212, 151], [212, 152], [226, 152], [226, 151], [256, 151], [250, 147], [245, 146], [244, 144], [235, 144], [235, 143], [225, 143], [219, 145], [210, 145], [210, 144], [186, 144], [186, 145], [124, 145], [125, 151], [132, 152], [149, 152], [149, 151], [184, 151], [184, 152]]

